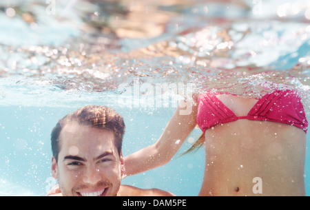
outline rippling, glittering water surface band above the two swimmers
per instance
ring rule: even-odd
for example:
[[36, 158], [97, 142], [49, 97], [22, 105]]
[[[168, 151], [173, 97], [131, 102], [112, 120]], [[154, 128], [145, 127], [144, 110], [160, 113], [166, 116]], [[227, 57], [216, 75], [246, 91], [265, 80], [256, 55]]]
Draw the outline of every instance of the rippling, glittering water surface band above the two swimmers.
[[[245, 19], [253, 11], [244, 5], [235, 7], [247, 16], [241, 18], [229, 10], [226, 19], [219, 19], [211, 12], [212, 3], [201, 3], [203, 11], [188, 2], [163, 8], [149, 3], [149, 11], [142, 12], [139, 4], [122, 1], [81, 4], [89, 10], [77, 9], [77, 2], [63, 3], [59, 16], [48, 16], [44, 3], [35, 5], [36, 10], [21, 3], [14, 5], [16, 11], [23, 8], [20, 16], [1, 14], [5, 19], [0, 48], [2, 98], [12, 85], [28, 86], [30, 92], [39, 86], [41, 91], [32, 94], [47, 99], [51, 92], [115, 92], [122, 83], [131, 84], [137, 78], [140, 83], [194, 83], [198, 90], [245, 96], [260, 94], [271, 83], [309, 90], [310, 28], [303, 19], [297, 23]], [[144, 25], [134, 27], [135, 15], [151, 14], [161, 18], [140, 21]], [[12, 24], [16, 26], [9, 27]], [[162, 26], [158, 26], [161, 33], [137, 32], [155, 30], [154, 25]], [[28, 37], [21, 37], [21, 30], [29, 32], [23, 33]]]

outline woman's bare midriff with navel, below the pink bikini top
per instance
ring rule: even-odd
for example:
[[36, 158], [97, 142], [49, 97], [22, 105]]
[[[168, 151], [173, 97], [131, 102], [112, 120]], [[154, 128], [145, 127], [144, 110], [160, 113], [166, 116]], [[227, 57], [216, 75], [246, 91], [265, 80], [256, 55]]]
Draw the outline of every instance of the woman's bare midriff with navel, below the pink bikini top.
[[200, 196], [304, 196], [306, 135], [283, 123], [247, 119], [205, 133]]

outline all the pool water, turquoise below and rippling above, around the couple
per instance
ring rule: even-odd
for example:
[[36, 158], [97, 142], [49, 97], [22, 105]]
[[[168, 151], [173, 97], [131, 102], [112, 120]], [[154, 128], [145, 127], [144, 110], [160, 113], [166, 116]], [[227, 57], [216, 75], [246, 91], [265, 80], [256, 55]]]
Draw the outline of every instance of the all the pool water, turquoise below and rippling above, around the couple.
[[[183, 91], [252, 97], [289, 86], [309, 120], [307, 1], [50, 2], [0, 3], [0, 196], [47, 193], [56, 183], [50, 132], [82, 105], [124, 117], [124, 156], [159, 138]], [[123, 184], [196, 196], [204, 149], [180, 154], [198, 136], [167, 165]], [[309, 169], [307, 150], [308, 196]]]

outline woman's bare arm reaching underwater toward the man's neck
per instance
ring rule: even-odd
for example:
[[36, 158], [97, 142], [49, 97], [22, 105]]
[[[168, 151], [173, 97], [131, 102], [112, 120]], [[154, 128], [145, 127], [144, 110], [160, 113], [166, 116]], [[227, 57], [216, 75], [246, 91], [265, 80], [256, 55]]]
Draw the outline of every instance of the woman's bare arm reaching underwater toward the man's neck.
[[169, 162], [196, 126], [196, 116], [196, 103], [179, 103], [157, 142], [124, 158], [126, 175], [148, 171]]

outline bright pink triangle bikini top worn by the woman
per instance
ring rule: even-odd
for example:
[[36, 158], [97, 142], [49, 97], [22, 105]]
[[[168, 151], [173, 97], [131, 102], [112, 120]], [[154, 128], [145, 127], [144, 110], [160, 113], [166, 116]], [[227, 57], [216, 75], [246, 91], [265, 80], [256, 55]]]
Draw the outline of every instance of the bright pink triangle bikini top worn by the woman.
[[260, 98], [247, 116], [236, 116], [215, 95], [200, 94], [198, 98], [197, 124], [205, 131], [218, 124], [238, 119], [271, 121], [294, 125], [307, 134], [308, 121], [300, 97], [291, 90], [276, 90]]

